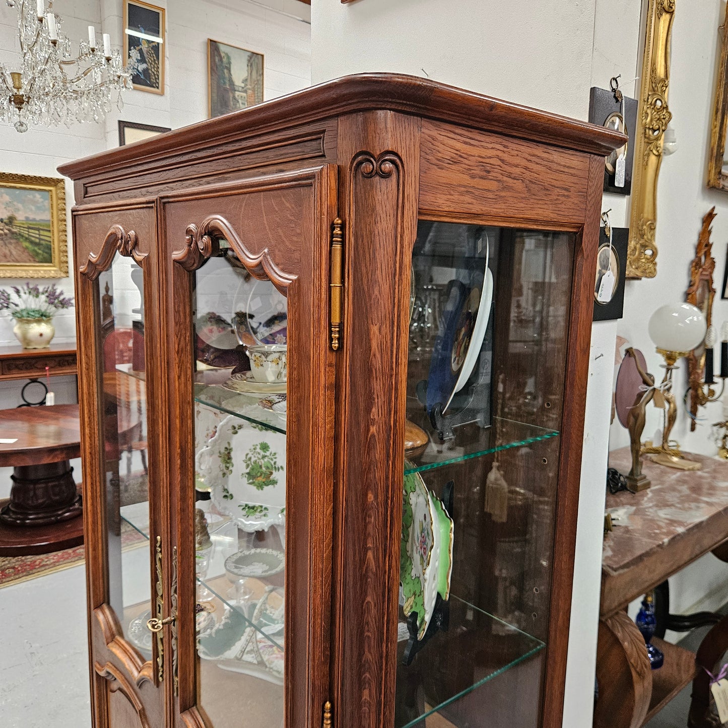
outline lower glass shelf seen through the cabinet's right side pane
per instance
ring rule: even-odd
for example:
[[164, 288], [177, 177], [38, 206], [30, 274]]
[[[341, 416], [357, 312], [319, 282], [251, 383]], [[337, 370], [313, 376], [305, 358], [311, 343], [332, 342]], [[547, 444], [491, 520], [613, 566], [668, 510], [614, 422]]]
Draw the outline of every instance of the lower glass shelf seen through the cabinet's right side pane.
[[[435, 633], [411, 665], [402, 664], [407, 639], [397, 644], [397, 692], [402, 694], [397, 695], [395, 728], [424, 728], [428, 716], [545, 647], [541, 640], [454, 595], [449, 605], [448, 630]], [[402, 622], [400, 627], [404, 627]], [[408, 700], [408, 696], [413, 699]]]

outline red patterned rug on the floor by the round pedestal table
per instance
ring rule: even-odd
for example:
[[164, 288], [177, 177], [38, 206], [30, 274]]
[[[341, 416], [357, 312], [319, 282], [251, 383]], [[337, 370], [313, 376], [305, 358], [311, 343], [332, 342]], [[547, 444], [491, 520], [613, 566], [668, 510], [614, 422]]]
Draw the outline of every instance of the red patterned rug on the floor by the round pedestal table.
[[[125, 485], [127, 487], [122, 491], [121, 505], [128, 505], [146, 499], [146, 475], [140, 473], [132, 476]], [[139, 531], [126, 521], [122, 521], [122, 550], [139, 548], [148, 542], [148, 539]], [[37, 556], [0, 557], [0, 589], [11, 584], [27, 582], [28, 579], [44, 577], [54, 571], [63, 571], [63, 569], [70, 569], [71, 566], [78, 566], [79, 563], [84, 561], [84, 554], [83, 546], [74, 546], [63, 551], [44, 553]]]

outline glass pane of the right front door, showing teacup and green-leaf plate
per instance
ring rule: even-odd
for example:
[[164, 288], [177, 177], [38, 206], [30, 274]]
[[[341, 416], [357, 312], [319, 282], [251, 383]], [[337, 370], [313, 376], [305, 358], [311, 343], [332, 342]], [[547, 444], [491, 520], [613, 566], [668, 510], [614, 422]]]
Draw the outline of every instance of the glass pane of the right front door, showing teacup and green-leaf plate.
[[221, 242], [195, 273], [199, 706], [282, 726], [288, 305]]

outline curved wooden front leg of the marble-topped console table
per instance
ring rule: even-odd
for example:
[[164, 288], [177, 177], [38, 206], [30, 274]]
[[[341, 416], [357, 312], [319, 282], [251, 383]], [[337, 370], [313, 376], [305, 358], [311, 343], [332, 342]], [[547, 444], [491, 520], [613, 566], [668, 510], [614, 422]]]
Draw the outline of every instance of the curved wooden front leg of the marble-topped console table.
[[639, 728], [652, 697], [644, 639], [626, 612], [599, 622], [594, 728]]

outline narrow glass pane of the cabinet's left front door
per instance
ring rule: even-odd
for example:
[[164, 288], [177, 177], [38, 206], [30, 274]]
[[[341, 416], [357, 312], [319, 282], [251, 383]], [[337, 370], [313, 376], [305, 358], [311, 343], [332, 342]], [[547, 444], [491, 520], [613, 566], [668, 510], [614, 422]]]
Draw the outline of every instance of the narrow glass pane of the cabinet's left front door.
[[144, 282], [132, 258], [116, 255], [100, 274], [103, 462], [109, 603], [124, 636], [146, 660], [152, 635], [149, 482], [144, 357]]

